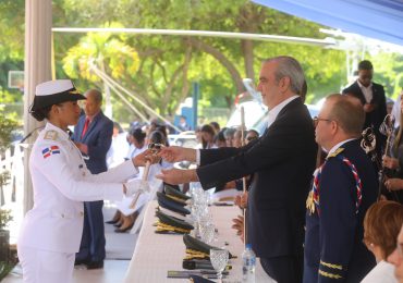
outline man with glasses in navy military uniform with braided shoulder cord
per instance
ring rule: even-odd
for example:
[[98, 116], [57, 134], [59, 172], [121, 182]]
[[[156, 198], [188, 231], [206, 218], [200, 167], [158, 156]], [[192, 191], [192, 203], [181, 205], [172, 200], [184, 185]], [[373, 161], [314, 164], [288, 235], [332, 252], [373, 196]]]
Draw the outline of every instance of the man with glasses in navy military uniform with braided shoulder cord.
[[306, 213], [304, 282], [359, 282], [375, 266], [363, 221], [377, 199], [377, 174], [359, 146], [365, 120], [355, 98], [331, 95], [315, 118], [316, 142], [328, 152], [315, 172]]

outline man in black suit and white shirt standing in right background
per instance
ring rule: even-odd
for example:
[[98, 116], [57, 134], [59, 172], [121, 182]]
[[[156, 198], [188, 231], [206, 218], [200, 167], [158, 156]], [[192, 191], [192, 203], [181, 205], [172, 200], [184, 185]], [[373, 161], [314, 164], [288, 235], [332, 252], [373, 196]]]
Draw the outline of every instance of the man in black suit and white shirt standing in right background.
[[368, 60], [358, 64], [358, 79], [354, 84], [343, 89], [343, 95], [351, 95], [359, 99], [365, 111], [365, 123], [363, 130], [374, 127], [377, 138], [377, 155], [382, 156], [382, 146], [386, 136], [379, 133], [379, 126], [387, 115], [387, 99], [383, 86], [373, 82], [374, 66]]

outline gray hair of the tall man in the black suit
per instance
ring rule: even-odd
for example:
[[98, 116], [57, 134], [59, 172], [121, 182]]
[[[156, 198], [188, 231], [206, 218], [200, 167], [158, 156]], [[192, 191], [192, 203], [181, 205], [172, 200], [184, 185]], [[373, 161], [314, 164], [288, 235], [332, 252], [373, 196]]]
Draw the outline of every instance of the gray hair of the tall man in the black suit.
[[303, 95], [303, 86], [305, 82], [304, 71], [301, 67], [298, 61], [294, 58], [289, 56], [279, 56], [274, 58], [270, 58], [264, 61], [264, 63], [276, 61], [279, 63], [277, 70], [274, 72], [276, 81], [280, 82], [281, 78], [284, 76], [290, 77], [290, 88], [291, 90], [302, 96]]

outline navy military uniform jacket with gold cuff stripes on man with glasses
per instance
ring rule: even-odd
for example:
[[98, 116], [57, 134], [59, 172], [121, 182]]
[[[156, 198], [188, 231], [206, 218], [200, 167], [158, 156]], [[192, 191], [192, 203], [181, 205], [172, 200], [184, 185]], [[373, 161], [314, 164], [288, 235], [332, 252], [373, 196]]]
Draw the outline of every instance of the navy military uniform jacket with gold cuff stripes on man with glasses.
[[[344, 150], [323, 164], [318, 179], [319, 205], [306, 214], [304, 283], [335, 282], [332, 276], [340, 276], [338, 282], [361, 282], [376, 263], [363, 244], [363, 222], [377, 199], [377, 173], [358, 140], [341, 148]], [[356, 180], [342, 157], [355, 165], [362, 182], [358, 213]]]

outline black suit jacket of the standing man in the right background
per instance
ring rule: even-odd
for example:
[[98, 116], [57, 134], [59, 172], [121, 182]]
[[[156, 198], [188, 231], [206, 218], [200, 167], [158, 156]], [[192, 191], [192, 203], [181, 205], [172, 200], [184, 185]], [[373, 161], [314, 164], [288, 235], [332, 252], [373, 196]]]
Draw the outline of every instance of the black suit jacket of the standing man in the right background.
[[[363, 106], [366, 103], [364, 94], [357, 82], [344, 88], [343, 94], [351, 94], [358, 98]], [[379, 126], [387, 115], [387, 99], [384, 97], [383, 86], [373, 83], [373, 100], [370, 102], [375, 104], [376, 108], [373, 112], [366, 113], [364, 128], [374, 125], [375, 131], [379, 133]]]

